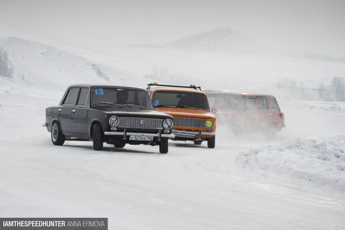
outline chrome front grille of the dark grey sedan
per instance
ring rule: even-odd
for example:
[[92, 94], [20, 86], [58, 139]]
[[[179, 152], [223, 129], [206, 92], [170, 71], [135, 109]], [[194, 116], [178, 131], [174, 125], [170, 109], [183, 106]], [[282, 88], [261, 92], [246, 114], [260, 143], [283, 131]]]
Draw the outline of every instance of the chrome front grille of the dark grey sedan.
[[163, 119], [142, 118], [142, 117], [119, 117], [121, 128], [152, 128], [162, 129]]

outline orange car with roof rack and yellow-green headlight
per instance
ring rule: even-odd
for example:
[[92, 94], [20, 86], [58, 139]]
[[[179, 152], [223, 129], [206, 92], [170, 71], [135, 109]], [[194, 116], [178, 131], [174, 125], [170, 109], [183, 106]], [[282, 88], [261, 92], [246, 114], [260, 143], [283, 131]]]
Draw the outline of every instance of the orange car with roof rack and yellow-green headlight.
[[174, 117], [174, 141], [194, 141], [195, 145], [207, 141], [215, 147], [216, 117], [210, 110], [206, 93], [195, 86], [148, 84], [148, 93], [154, 109]]

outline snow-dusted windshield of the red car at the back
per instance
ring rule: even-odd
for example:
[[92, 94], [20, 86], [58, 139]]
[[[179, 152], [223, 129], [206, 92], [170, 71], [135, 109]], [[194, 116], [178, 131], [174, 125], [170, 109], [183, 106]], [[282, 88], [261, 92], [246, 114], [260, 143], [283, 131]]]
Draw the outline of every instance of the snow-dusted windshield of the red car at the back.
[[210, 93], [207, 95], [211, 108], [243, 109], [245, 96], [237, 94]]

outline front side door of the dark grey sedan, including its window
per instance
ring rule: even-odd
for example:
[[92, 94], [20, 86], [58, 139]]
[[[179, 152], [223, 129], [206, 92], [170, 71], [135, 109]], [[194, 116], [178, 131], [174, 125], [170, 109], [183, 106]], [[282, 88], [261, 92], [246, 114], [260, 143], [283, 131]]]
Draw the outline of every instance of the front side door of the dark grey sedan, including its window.
[[71, 132], [82, 138], [86, 135], [87, 113], [90, 104], [90, 88], [82, 87], [80, 89], [78, 101], [72, 109], [71, 114]]

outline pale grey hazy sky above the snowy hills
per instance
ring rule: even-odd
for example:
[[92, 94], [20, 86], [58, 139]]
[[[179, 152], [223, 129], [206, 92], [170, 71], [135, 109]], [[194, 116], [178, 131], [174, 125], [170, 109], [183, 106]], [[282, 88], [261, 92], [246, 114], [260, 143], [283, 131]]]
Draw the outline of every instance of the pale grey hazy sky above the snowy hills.
[[0, 0], [0, 37], [38, 42], [32, 29], [88, 45], [138, 45], [224, 26], [275, 50], [345, 56], [345, 0]]

